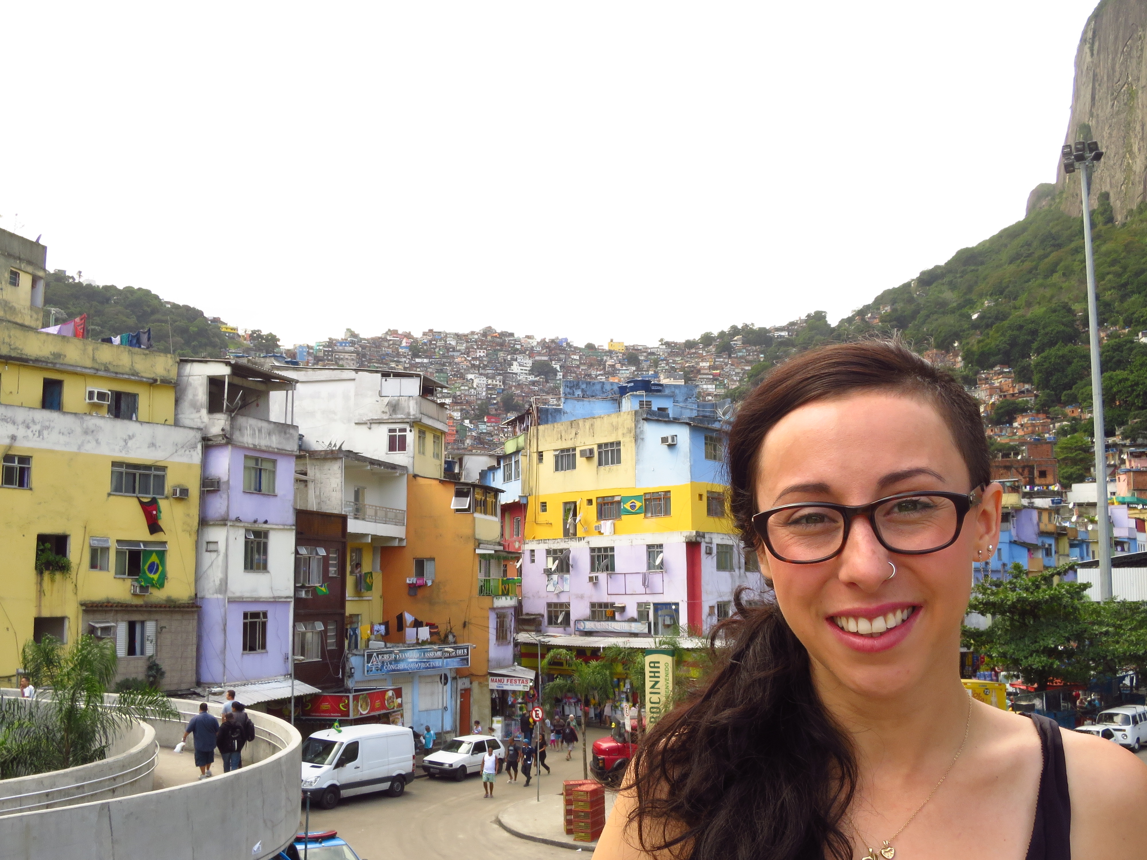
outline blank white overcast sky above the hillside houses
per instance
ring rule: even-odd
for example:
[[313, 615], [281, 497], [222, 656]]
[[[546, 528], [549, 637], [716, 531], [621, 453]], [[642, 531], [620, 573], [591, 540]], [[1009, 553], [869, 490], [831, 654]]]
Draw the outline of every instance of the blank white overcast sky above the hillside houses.
[[9, 5], [0, 227], [288, 344], [835, 322], [1054, 181], [1094, 5]]

